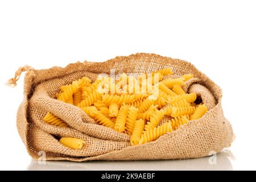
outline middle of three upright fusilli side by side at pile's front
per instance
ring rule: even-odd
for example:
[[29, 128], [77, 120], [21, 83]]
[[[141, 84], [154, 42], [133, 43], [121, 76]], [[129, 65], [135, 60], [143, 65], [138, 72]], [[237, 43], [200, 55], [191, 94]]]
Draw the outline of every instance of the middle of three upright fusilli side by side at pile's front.
[[138, 108], [135, 108], [133, 106], [129, 107], [127, 118], [126, 118], [126, 123], [125, 123], [125, 129], [127, 134], [131, 135], [133, 133], [135, 121], [137, 119], [138, 115]]

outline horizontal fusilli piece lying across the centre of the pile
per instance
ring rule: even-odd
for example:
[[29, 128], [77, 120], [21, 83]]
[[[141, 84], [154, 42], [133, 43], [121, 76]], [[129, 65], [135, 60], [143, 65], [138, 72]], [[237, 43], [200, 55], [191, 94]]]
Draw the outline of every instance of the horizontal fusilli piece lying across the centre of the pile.
[[128, 94], [124, 94], [121, 96], [118, 95], [110, 95], [110, 94], [105, 94], [104, 96], [102, 96], [102, 101], [106, 104], [109, 105], [111, 103], [115, 103], [118, 105], [121, 104], [129, 104], [134, 102], [134, 95], [128, 95]]

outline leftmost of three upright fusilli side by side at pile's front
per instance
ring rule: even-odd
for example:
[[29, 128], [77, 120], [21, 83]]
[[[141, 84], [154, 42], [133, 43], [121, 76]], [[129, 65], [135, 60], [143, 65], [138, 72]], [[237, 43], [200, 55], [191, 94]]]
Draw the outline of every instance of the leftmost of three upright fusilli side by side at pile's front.
[[117, 120], [115, 121], [114, 129], [115, 131], [123, 132], [125, 131], [125, 123], [128, 114], [129, 107], [127, 105], [122, 105], [117, 114]]

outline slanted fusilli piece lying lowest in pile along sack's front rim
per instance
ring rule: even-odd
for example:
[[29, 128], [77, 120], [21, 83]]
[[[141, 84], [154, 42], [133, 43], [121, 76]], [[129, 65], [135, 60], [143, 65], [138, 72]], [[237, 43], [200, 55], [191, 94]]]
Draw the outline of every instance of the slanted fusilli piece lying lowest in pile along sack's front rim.
[[154, 141], [162, 135], [170, 132], [172, 132], [171, 122], [163, 123], [162, 125], [154, 127], [153, 129], [147, 130], [145, 133], [143, 133], [141, 135], [141, 139], [139, 140], [139, 144]]

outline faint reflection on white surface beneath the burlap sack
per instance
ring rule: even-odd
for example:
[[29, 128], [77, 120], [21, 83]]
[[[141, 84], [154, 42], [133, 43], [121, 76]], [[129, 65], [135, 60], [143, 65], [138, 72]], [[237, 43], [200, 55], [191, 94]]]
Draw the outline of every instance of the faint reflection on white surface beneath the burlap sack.
[[27, 170], [233, 170], [229, 150], [200, 159], [144, 160], [144, 161], [91, 161], [67, 162], [50, 161], [39, 164], [31, 160]]

